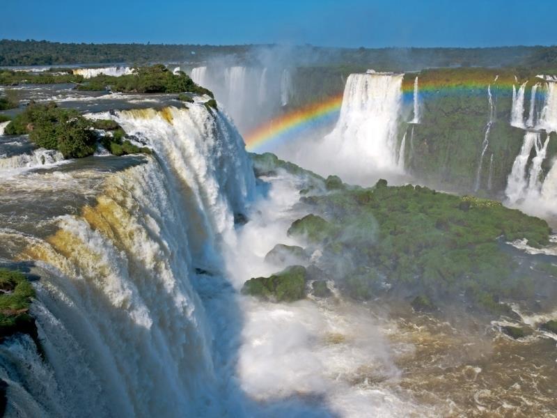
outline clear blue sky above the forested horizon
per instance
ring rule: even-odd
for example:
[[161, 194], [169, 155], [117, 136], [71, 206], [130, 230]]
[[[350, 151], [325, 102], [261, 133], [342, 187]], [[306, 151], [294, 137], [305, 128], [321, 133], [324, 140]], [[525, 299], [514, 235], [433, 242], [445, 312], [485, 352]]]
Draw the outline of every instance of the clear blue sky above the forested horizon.
[[345, 47], [556, 45], [555, 0], [16, 0], [0, 38]]

